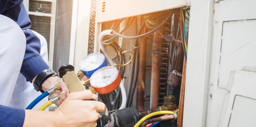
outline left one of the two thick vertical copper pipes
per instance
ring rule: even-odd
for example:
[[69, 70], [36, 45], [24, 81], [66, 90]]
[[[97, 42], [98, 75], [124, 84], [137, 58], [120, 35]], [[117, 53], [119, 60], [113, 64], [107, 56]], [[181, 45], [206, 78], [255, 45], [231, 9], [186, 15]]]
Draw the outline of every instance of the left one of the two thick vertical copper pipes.
[[[145, 75], [146, 75], [146, 56], [147, 56], [147, 39], [140, 38], [139, 43], [139, 73], [137, 81], [137, 109], [144, 110], [144, 90], [145, 90]], [[151, 68], [150, 68], [151, 69]]]

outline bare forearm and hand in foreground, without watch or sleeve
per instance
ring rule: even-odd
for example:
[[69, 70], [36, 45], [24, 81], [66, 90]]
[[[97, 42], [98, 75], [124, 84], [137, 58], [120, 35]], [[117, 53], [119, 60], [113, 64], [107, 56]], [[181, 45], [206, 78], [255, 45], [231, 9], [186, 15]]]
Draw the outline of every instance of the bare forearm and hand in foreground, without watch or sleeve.
[[98, 101], [84, 101], [96, 99], [90, 90], [70, 93], [67, 99], [53, 112], [25, 110], [23, 127], [93, 127], [100, 118], [98, 112], [106, 109], [105, 104]]

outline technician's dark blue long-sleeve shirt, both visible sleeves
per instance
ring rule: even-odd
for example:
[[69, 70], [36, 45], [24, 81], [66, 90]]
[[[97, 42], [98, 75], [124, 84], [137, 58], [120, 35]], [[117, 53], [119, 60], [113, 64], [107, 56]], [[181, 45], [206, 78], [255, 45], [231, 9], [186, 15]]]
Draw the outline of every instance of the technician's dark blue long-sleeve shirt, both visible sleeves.
[[[24, 31], [27, 44], [20, 73], [31, 82], [49, 66], [40, 55], [40, 39], [30, 30], [31, 21], [22, 2], [23, 0], [0, 0], [0, 14], [15, 21]], [[24, 119], [24, 109], [0, 105], [0, 127], [22, 127]]]

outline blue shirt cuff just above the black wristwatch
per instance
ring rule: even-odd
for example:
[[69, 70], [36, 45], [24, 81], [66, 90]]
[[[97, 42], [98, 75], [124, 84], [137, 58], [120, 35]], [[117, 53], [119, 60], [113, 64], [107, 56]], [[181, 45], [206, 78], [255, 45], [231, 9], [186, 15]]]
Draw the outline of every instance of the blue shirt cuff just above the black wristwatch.
[[33, 78], [45, 69], [49, 69], [49, 66], [41, 56], [37, 56], [23, 62], [20, 73], [32, 82]]

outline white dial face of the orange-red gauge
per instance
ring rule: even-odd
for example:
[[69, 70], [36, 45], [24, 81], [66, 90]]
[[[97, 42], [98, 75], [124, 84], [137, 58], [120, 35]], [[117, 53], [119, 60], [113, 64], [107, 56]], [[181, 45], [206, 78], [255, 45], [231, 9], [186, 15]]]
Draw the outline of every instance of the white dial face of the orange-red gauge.
[[93, 87], [103, 87], [116, 80], [118, 71], [115, 67], [107, 66], [92, 74], [90, 84]]

